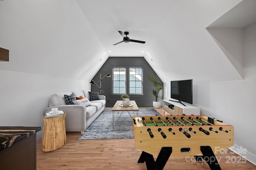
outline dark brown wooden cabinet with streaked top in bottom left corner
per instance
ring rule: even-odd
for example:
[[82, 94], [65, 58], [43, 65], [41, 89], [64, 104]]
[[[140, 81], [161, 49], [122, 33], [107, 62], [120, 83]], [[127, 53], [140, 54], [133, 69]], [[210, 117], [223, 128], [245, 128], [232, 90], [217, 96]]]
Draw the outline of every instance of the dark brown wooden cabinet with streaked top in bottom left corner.
[[36, 133], [41, 127], [0, 127], [0, 169], [36, 170]]

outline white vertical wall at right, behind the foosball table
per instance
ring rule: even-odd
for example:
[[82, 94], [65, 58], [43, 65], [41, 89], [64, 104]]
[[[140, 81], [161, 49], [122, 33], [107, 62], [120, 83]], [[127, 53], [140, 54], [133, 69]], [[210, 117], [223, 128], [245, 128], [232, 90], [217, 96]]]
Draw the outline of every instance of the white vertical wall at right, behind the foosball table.
[[200, 113], [234, 126], [234, 145], [256, 164], [256, 23], [244, 29], [244, 80], [194, 82], [193, 104]]

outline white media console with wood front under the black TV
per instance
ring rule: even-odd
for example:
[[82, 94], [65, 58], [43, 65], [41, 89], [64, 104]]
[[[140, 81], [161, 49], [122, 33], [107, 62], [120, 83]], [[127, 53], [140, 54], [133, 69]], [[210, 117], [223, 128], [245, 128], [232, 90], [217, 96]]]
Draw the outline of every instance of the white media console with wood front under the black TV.
[[[185, 115], [200, 115], [200, 108], [192, 106], [190, 104], [185, 104], [186, 106], [183, 106], [182, 104], [178, 102], [173, 102], [170, 100], [163, 100], [163, 114], [167, 113], [168, 115], [182, 115], [183, 113]], [[172, 108], [168, 107], [169, 105], [174, 105]], [[165, 113], [164, 113], [165, 112]]]

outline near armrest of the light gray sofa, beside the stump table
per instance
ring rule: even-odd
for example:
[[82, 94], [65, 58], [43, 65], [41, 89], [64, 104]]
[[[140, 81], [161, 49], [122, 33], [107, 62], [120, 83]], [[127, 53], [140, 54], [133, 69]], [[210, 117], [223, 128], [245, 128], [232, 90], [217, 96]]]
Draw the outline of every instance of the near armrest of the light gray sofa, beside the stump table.
[[[86, 107], [84, 105], [60, 105], [53, 107], [58, 107], [58, 110], [66, 113], [66, 131], [84, 131], [86, 129]], [[44, 109], [44, 113], [48, 113], [53, 107]]]

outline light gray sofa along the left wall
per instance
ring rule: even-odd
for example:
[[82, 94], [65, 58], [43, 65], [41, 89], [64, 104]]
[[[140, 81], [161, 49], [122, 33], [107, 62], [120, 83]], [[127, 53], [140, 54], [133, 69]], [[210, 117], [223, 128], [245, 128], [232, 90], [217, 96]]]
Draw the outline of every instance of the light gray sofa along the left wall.
[[85, 129], [104, 111], [106, 107], [106, 97], [99, 95], [100, 100], [90, 101], [90, 106], [68, 105], [65, 102], [64, 95], [71, 95], [72, 93], [76, 97], [83, 96], [90, 100], [89, 96], [90, 90], [79, 90], [74, 92], [64, 92], [52, 94], [51, 99], [49, 100], [49, 107], [44, 109], [44, 113], [51, 111], [53, 107], [58, 107], [58, 110], [64, 111], [66, 113], [65, 123], [66, 131], [81, 131], [83, 134]]

